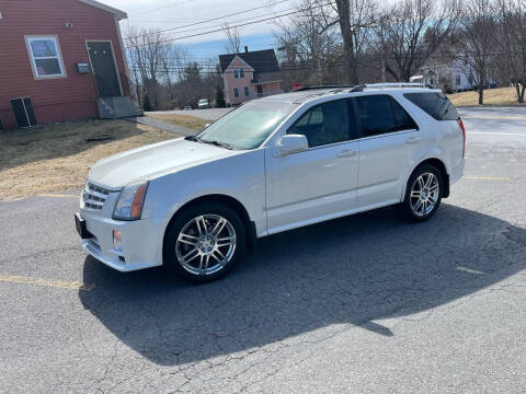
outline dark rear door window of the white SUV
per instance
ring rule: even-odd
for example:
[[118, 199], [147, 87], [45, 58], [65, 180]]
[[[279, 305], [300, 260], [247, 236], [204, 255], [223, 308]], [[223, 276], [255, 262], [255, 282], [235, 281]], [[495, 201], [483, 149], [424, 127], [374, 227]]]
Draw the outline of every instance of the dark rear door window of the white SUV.
[[355, 97], [356, 115], [362, 137], [378, 136], [398, 129], [388, 95]]

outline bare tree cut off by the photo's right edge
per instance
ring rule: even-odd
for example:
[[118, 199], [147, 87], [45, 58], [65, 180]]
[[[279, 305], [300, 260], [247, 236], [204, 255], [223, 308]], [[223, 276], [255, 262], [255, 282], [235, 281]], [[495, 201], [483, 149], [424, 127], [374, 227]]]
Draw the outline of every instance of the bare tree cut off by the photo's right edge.
[[499, 69], [505, 70], [508, 82], [515, 85], [518, 103], [524, 103], [526, 90], [526, 1], [498, 0]]

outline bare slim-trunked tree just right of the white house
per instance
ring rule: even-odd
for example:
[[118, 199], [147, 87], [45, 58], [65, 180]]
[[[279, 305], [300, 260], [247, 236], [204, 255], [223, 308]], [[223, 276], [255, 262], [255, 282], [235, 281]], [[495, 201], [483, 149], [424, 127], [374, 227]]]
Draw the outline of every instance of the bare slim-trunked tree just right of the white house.
[[479, 92], [479, 104], [484, 102], [489, 84], [489, 65], [494, 51], [496, 24], [491, 0], [466, 0], [460, 18], [458, 67], [469, 74]]

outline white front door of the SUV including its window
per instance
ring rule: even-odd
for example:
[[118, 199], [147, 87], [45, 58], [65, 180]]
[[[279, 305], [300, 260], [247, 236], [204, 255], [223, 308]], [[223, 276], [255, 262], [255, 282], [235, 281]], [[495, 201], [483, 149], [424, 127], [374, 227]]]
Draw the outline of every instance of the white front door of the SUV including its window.
[[268, 233], [355, 208], [358, 143], [351, 109], [348, 100], [313, 106], [287, 130], [305, 135], [308, 150], [285, 157], [266, 150]]

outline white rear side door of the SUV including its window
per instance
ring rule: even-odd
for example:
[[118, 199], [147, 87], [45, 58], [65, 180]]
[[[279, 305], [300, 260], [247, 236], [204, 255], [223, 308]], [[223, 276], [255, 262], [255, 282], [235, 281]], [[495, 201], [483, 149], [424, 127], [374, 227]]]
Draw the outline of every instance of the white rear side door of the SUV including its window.
[[398, 202], [421, 149], [421, 131], [389, 95], [359, 96], [354, 104], [361, 135], [357, 207]]

